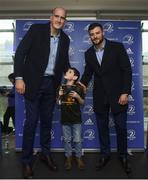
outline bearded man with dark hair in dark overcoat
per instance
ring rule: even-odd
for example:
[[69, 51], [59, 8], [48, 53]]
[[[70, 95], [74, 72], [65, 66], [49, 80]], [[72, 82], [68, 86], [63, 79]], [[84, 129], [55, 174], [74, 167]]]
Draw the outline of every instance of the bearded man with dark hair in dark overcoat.
[[109, 112], [111, 110], [116, 134], [119, 159], [126, 172], [130, 172], [127, 158], [127, 108], [131, 93], [132, 71], [128, 55], [121, 43], [104, 38], [99, 23], [88, 28], [93, 43], [85, 52], [85, 70], [80, 83], [87, 86], [94, 75], [93, 106], [96, 115], [101, 157], [96, 168], [110, 160]]

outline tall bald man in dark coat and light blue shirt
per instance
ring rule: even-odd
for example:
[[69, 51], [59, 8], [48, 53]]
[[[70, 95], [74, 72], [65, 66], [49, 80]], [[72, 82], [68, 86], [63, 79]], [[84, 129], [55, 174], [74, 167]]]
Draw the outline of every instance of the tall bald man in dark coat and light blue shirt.
[[40, 118], [41, 160], [57, 170], [50, 153], [50, 131], [55, 92], [62, 74], [70, 66], [69, 38], [62, 31], [66, 11], [53, 9], [48, 24], [33, 24], [20, 42], [14, 61], [16, 91], [25, 97], [26, 121], [23, 130], [23, 176], [32, 178], [33, 144]]

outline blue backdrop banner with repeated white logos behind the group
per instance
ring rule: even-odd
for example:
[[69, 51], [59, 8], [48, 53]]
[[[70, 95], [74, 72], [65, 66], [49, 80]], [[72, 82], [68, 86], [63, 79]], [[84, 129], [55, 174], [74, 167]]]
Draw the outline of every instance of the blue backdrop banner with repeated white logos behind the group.
[[[91, 46], [87, 33], [90, 23], [96, 21], [69, 21], [64, 31], [70, 38], [70, 63], [78, 68], [81, 75], [84, 71], [84, 52]], [[46, 23], [46, 20], [17, 20], [15, 49], [22, 37], [33, 23]], [[143, 117], [143, 76], [142, 76], [142, 47], [141, 47], [141, 23], [140, 21], [99, 21], [104, 28], [105, 36], [113, 41], [122, 42], [128, 53], [132, 66], [132, 94], [129, 96], [128, 108], [128, 147], [132, 150], [144, 149], [144, 117]], [[92, 106], [93, 81], [89, 83], [85, 105], [82, 107], [83, 119], [83, 148], [95, 150], [99, 148], [99, 140], [95, 116]], [[23, 124], [25, 121], [25, 108], [23, 96], [16, 94], [16, 149], [21, 150]], [[39, 122], [40, 123], [40, 122]], [[63, 148], [62, 132], [60, 125], [60, 109], [54, 111], [53, 127], [51, 131], [52, 148]], [[116, 149], [116, 133], [114, 120], [110, 115], [111, 147]], [[35, 148], [39, 148], [39, 126], [35, 137]]]

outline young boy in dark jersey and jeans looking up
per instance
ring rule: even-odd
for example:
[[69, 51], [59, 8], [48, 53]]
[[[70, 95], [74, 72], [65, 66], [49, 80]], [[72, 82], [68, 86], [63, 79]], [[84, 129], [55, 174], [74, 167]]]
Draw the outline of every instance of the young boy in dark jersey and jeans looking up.
[[[58, 101], [61, 104], [61, 123], [64, 139], [65, 169], [72, 168], [72, 142], [77, 166], [80, 170], [84, 169], [82, 160], [82, 139], [81, 139], [81, 111], [80, 105], [84, 104], [83, 88], [77, 84], [79, 71], [71, 67], [65, 73], [65, 85], [60, 86], [58, 91]], [[73, 141], [72, 141], [73, 139]]]

